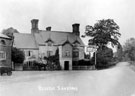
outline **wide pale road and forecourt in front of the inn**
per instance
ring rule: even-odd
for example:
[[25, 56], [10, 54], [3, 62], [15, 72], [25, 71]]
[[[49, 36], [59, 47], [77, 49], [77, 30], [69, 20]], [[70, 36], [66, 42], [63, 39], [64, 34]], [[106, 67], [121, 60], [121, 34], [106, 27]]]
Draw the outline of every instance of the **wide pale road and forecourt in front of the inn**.
[[0, 96], [135, 96], [135, 71], [15, 71], [0, 77]]

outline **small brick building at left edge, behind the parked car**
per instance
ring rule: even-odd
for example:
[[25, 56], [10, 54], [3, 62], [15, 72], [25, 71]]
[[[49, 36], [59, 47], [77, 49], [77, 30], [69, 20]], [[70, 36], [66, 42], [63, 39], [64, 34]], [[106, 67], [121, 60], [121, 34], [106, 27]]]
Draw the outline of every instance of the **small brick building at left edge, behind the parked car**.
[[0, 34], [0, 66], [12, 67], [11, 64], [12, 39]]

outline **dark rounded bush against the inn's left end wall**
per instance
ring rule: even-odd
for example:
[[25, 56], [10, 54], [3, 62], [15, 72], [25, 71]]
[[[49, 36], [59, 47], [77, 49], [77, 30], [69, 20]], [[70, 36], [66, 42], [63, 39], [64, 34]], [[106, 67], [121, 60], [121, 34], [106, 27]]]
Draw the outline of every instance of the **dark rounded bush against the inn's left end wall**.
[[12, 59], [12, 61], [14, 63], [23, 63], [23, 61], [25, 59], [23, 51], [13, 47], [12, 48], [12, 58], [11, 59]]

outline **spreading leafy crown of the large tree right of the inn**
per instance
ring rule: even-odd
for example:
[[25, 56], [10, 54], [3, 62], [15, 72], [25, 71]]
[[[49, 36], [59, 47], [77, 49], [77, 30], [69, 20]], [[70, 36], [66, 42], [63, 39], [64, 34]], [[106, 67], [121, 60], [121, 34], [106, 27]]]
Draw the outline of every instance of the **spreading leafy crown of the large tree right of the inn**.
[[119, 26], [113, 19], [99, 20], [94, 26], [86, 26], [84, 36], [90, 36], [89, 45], [107, 45], [111, 42], [112, 46], [118, 44], [118, 38], [121, 36], [119, 33]]

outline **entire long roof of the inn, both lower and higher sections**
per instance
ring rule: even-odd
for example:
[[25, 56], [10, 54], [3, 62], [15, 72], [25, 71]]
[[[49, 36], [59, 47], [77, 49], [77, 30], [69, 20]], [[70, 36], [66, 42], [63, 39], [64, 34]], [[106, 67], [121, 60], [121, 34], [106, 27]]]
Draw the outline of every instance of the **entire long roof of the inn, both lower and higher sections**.
[[39, 33], [34, 34], [14, 33], [14, 47], [38, 49], [38, 45], [45, 45], [48, 41], [52, 41], [53, 45], [63, 45], [67, 43], [67, 37], [70, 44], [78, 42], [84, 46], [81, 38], [71, 32], [39, 30]]

